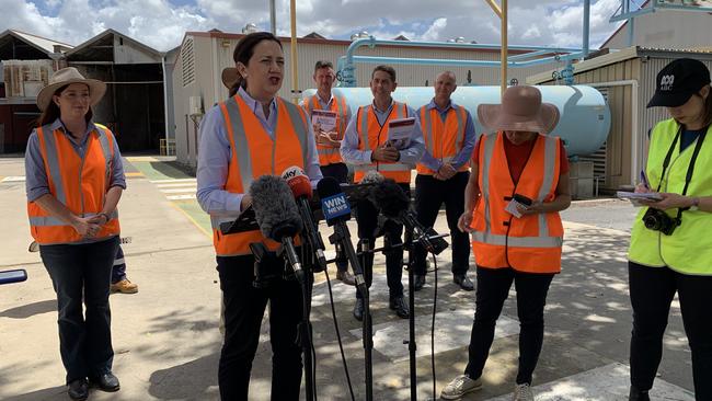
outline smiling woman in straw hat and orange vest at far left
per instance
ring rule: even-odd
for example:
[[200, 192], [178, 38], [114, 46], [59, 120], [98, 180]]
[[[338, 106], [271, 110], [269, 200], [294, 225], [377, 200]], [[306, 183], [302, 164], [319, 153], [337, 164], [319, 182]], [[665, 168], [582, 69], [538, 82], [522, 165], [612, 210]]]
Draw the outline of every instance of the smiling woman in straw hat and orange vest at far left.
[[37, 95], [42, 116], [25, 152], [30, 229], [57, 293], [59, 351], [72, 400], [87, 399], [88, 379], [104, 391], [119, 388], [112, 374], [108, 294], [126, 179], [113, 134], [92, 122], [91, 106], [105, 91], [76, 68], [55, 72]]

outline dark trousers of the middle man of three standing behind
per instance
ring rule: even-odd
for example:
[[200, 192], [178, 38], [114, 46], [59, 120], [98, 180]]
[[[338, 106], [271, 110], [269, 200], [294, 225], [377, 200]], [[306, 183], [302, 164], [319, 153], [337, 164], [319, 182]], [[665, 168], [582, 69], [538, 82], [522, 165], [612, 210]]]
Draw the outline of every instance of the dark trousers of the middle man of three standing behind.
[[[409, 184], [399, 184], [405, 194], [410, 197], [411, 190]], [[374, 249], [376, 241], [376, 232], [379, 230], [378, 209], [370, 203], [370, 200], [359, 200], [356, 203], [356, 222], [358, 224], [358, 250], [361, 250], [361, 244], [368, 242], [369, 249]], [[403, 225], [397, 224], [393, 220], [386, 220], [381, 227], [384, 237], [386, 247], [401, 245], [403, 243]], [[393, 248], [386, 251], [386, 278], [388, 282], [389, 298], [394, 299], [403, 296], [403, 247]], [[364, 278], [370, 287], [374, 280], [374, 254], [368, 254], [361, 257], [365, 261]], [[356, 290], [356, 298], [361, 295]]]

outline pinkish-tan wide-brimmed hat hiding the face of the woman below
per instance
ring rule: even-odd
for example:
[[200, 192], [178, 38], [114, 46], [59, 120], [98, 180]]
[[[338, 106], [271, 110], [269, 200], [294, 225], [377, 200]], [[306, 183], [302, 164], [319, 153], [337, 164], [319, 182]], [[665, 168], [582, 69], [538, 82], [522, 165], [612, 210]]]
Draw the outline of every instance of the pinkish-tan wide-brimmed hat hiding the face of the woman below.
[[549, 134], [559, 123], [559, 108], [541, 103], [541, 92], [535, 87], [510, 87], [504, 91], [502, 104], [480, 104], [478, 119], [494, 131]]

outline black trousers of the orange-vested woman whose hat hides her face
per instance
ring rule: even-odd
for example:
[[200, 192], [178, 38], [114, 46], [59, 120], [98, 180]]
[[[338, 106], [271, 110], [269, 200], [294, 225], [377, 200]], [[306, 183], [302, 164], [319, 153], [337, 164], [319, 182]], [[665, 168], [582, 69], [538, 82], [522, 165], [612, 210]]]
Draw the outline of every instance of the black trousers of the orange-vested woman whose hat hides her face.
[[543, 344], [544, 306], [553, 274], [532, 274], [507, 268], [478, 266], [476, 307], [464, 374], [471, 379], [482, 376], [494, 340], [494, 326], [514, 282], [519, 317], [519, 371], [517, 385], [531, 383], [531, 376]]

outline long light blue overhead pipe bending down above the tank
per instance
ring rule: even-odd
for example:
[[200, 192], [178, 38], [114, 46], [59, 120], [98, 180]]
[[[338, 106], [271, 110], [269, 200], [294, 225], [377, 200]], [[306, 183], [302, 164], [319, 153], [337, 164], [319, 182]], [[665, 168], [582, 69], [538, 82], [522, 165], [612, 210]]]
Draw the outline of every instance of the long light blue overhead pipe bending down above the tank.
[[[356, 39], [349, 46], [348, 49], [346, 49], [346, 56], [345, 60], [342, 62], [341, 59], [338, 61], [338, 66], [341, 68], [338, 69], [338, 73], [341, 75], [341, 82], [343, 83], [343, 87], [346, 88], [354, 88], [356, 87], [356, 67], [354, 66], [354, 53], [356, 51], [357, 48], [361, 46], [369, 46], [369, 47], [375, 47], [376, 45], [386, 45], [386, 46], [407, 46], [407, 47], [446, 47], [446, 48], [461, 48], [461, 49], [487, 49], [487, 50], [499, 50], [502, 48], [501, 45], [494, 45], [494, 44], [474, 44], [474, 43], [450, 43], [450, 42], [418, 42], [418, 41], [386, 41], [386, 39], [377, 39], [374, 36], [369, 36], [367, 38], [363, 39]], [[581, 54], [579, 48], [571, 48], [571, 47], [546, 47], [546, 46], [507, 46], [507, 49], [509, 50], [529, 50], [529, 51], [537, 51], [537, 50], [547, 50], [548, 53], [575, 53], [575, 54]], [[556, 56], [558, 57], [558, 56]], [[563, 57], [563, 56], [562, 56]], [[558, 59], [558, 58], [555, 58]], [[401, 62], [403, 59], [398, 59], [398, 58], [382, 58], [382, 61], [378, 62]], [[427, 59], [425, 59], [427, 60]], [[539, 61], [539, 60], [536, 60]], [[369, 61], [370, 62], [370, 61]], [[376, 62], [376, 61], [374, 61]], [[482, 62], [487, 62], [487, 61], [482, 61]], [[475, 66], [486, 66], [486, 67], [496, 67], [499, 66], [499, 61], [489, 61], [489, 62], [496, 62], [495, 65], [475, 65]], [[549, 62], [549, 61], [546, 61]], [[539, 65], [539, 64], [546, 64], [546, 62], [535, 62], [531, 64], [533, 65]], [[417, 62], [413, 62], [417, 64]], [[443, 62], [438, 62], [443, 64]], [[528, 65], [513, 65], [513, 67], [527, 67]]]

